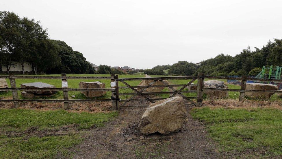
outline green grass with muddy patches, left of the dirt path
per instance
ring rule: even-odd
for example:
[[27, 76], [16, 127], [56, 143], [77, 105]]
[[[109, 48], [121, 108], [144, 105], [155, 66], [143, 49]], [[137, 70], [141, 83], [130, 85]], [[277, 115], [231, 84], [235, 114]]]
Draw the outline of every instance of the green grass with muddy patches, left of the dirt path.
[[[72, 154], [67, 151], [83, 138], [82, 129], [101, 127], [117, 116], [110, 113], [73, 113], [64, 110], [37, 111], [27, 109], [0, 109], [0, 156], [1, 158], [54, 158], [61, 153], [66, 158]], [[66, 130], [60, 136], [28, 135], [25, 131], [36, 127], [43, 133], [56, 131], [65, 125], [75, 124], [74, 130]], [[12, 134], [19, 135], [12, 135]]]

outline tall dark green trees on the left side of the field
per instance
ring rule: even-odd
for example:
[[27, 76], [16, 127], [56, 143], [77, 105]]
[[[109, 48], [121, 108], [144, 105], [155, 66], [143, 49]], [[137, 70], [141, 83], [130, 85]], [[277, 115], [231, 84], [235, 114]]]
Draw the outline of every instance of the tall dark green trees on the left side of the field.
[[49, 39], [47, 29], [39, 21], [0, 11], [0, 69], [4, 66], [9, 73], [11, 67], [20, 63], [25, 74], [25, 62], [34, 74], [95, 73], [82, 53], [64, 41]]

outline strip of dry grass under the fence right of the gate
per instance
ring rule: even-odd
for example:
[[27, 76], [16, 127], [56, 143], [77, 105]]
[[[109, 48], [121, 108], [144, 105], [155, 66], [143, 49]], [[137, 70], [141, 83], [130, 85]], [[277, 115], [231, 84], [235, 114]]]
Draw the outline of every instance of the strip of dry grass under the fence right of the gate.
[[203, 105], [210, 107], [225, 107], [230, 109], [236, 108], [275, 108], [282, 110], [282, 101], [262, 101], [262, 100], [243, 100], [238, 99], [218, 99], [218, 100], [204, 100]]

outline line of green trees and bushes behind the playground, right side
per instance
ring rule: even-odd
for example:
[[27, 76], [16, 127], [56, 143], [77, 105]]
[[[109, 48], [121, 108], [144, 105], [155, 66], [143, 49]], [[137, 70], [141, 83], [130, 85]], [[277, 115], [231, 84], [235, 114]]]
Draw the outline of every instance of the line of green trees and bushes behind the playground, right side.
[[173, 65], [158, 65], [144, 70], [144, 74], [166, 75], [163, 71], [169, 69], [168, 75], [197, 75], [203, 72], [212, 76], [249, 75], [256, 76], [262, 66], [282, 66], [282, 39], [268, 41], [261, 48], [243, 49], [235, 56], [219, 54], [215, 58], [201, 62], [200, 66], [187, 61], [179, 61]]

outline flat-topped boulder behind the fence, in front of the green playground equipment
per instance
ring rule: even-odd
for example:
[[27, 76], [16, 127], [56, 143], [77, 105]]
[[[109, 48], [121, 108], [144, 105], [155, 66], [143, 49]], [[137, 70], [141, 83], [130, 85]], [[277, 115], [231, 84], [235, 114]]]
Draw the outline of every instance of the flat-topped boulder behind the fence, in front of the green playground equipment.
[[[246, 89], [257, 89], [257, 90], [278, 90], [277, 85], [264, 84], [264, 83], [247, 83]], [[271, 92], [245, 92], [245, 96], [250, 98], [259, 98], [262, 100], [268, 100], [272, 94]]]

